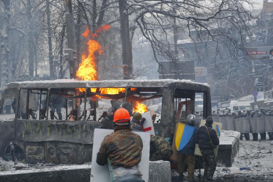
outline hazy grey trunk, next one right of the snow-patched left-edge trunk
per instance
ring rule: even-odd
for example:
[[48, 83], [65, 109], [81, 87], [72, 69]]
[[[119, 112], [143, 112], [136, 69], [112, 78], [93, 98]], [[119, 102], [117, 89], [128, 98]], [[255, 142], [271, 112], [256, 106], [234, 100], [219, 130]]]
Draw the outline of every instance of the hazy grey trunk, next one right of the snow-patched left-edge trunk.
[[34, 47], [33, 47], [33, 22], [32, 21], [32, 6], [30, 0], [27, 1], [28, 9], [28, 75], [33, 78], [34, 72]]

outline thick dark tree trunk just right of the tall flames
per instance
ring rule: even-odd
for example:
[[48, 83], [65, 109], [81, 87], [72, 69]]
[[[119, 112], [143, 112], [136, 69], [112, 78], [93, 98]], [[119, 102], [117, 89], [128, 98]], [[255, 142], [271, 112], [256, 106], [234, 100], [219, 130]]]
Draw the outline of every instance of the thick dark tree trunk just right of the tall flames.
[[123, 79], [132, 78], [133, 73], [133, 55], [132, 42], [130, 41], [129, 17], [126, 9], [127, 3], [124, 0], [119, 0], [119, 15], [120, 15], [120, 34], [122, 44], [122, 63], [123, 63]]

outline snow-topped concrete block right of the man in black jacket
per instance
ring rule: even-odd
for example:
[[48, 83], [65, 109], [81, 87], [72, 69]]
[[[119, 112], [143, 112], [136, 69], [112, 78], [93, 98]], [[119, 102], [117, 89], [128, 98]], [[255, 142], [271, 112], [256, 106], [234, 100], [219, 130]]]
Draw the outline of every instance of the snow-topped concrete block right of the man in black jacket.
[[217, 166], [231, 167], [239, 150], [240, 133], [237, 131], [221, 131], [220, 144], [216, 156]]

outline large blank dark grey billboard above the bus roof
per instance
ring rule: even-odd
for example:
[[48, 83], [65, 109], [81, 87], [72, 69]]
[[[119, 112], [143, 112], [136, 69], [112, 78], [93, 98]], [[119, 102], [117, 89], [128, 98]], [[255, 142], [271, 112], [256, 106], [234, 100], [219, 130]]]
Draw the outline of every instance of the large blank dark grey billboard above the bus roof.
[[194, 61], [165, 61], [159, 62], [159, 79], [195, 80]]

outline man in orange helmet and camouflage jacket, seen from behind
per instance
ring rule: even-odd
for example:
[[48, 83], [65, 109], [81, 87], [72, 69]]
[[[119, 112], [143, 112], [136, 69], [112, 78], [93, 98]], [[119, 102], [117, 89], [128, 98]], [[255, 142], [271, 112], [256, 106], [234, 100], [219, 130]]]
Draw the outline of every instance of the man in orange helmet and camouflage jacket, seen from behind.
[[124, 109], [114, 113], [114, 133], [104, 137], [96, 162], [109, 165], [111, 181], [144, 182], [138, 163], [141, 160], [142, 140], [130, 127], [130, 114]]

